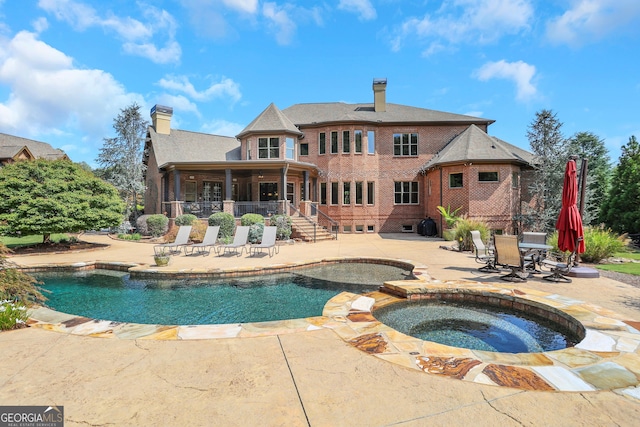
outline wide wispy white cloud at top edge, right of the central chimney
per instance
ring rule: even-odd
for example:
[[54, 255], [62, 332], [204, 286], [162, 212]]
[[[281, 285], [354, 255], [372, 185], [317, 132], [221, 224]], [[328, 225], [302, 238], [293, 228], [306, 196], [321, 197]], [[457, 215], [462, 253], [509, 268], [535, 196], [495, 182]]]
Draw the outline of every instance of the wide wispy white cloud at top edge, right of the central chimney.
[[452, 0], [433, 14], [404, 21], [391, 45], [397, 51], [405, 40], [416, 38], [432, 45], [425, 51], [429, 54], [442, 50], [444, 42], [490, 43], [527, 30], [532, 18], [530, 0]]

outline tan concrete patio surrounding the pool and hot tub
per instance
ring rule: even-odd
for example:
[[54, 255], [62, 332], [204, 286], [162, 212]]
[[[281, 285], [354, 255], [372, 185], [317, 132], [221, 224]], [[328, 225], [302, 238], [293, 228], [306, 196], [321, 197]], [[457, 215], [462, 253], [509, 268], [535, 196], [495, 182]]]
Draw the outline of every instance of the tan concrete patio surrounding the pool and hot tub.
[[[181, 255], [165, 268], [248, 268], [369, 256], [426, 265], [428, 274], [439, 280], [499, 281], [496, 274], [479, 273], [471, 254], [440, 248], [448, 242], [415, 234], [339, 237], [334, 242], [283, 245], [273, 258]], [[110, 246], [13, 260], [24, 266], [96, 260], [153, 264], [150, 244], [101, 235], [83, 240]], [[614, 280], [556, 284], [533, 278], [522, 287], [640, 320], [640, 289]], [[95, 338], [32, 327], [0, 333], [0, 357], [0, 404], [63, 405], [69, 426], [631, 426], [640, 419], [638, 390], [631, 395], [541, 392], [463, 382], [380, 360], [329, 329], [164, 341]], [[640, 378], [640, 366], [636, 368]]]

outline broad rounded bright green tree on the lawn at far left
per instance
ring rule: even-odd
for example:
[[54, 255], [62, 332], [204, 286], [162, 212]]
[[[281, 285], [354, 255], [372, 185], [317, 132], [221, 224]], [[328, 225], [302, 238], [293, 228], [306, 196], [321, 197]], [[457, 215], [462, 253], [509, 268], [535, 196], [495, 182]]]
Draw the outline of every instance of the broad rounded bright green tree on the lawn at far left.
[[0, 168], [0, 233], [75, 233], [122, 221], [118, 191], [69, 160], [31, 160]]

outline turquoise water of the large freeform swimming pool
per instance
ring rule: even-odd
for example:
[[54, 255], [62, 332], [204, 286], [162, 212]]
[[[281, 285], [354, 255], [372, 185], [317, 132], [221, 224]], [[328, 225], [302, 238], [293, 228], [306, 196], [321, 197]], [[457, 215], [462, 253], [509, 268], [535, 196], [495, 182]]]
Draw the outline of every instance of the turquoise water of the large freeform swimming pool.
[[233, 279], [132, 279], [109, 270], [36, 274], [46, 305], [64, 313], [117, 322], [200, 325], [321, 316], [326, 302], [347, 291], [366, 293], [406, 279], [393, 266], [344, 263], [292, 273]]

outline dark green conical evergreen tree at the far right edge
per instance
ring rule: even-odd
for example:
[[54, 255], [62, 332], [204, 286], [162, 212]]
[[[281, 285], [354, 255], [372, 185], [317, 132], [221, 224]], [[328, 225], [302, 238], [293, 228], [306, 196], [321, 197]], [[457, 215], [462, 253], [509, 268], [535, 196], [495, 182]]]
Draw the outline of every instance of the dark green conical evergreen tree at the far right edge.
[[618, 233], [640, 232], [640, 144], [635, 136], [622, 147], [611, 190], [602, 205], [602, 219]]

